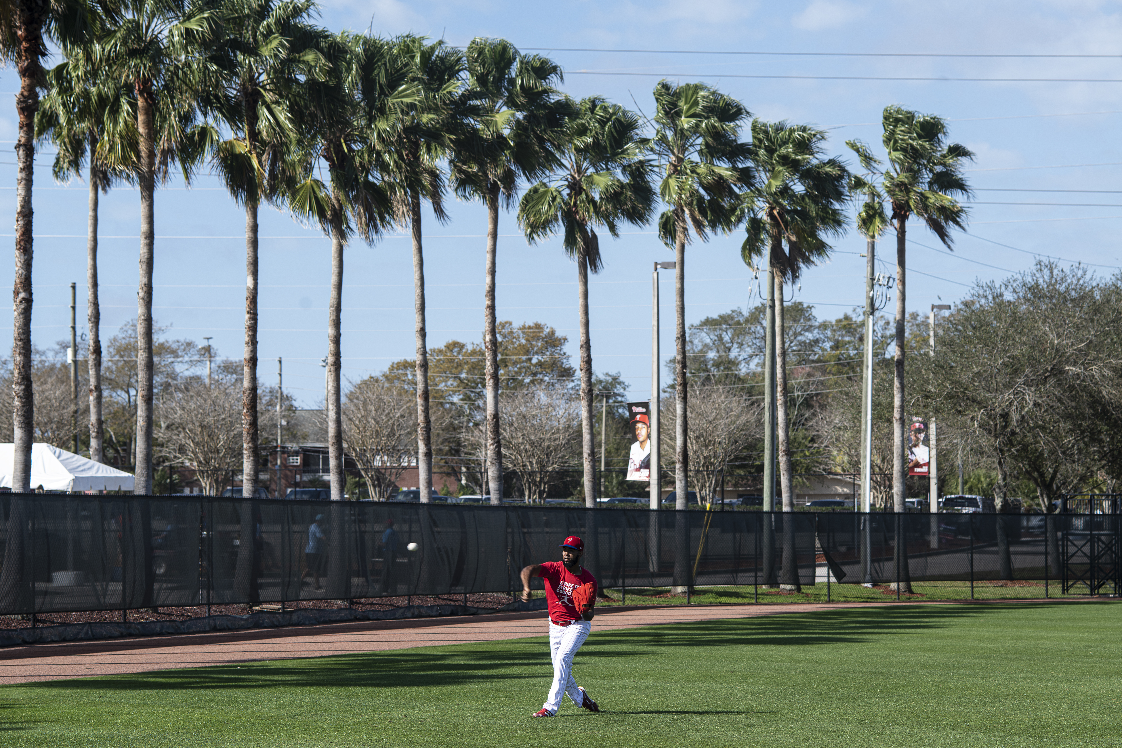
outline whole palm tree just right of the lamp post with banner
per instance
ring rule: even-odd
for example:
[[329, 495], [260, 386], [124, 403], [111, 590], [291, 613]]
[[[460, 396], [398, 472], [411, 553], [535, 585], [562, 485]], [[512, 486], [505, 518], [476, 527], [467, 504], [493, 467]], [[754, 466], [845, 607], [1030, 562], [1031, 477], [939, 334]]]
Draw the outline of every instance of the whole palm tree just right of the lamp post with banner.
[[[674, 248], [674, 393], [675, 393], [675, 508], [686, 509], [689, 451], [687, 434], [686, 361], [686, 244], [690, 229], [702, 241], [710, 231], [728, 232], [742, 215], [737, 188], [747, 186], [752, 172], [748, 146], [738, 140], [741, 123], [751, 117], [744, 105], [702, 83], [654, 86], [654, 138], [651, 153], [659, 159], [663, 177], [659, 194], [666, 210], [659, 218], [659, 236]], [[681, 516], [679, 516], [681, 518]], [[683, 521], [675, 523], [674, 580], [672, 591], [689, 585], [689, 535]]]

